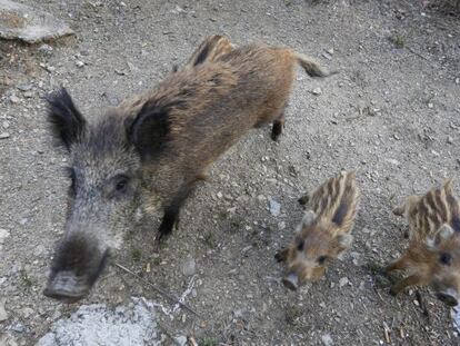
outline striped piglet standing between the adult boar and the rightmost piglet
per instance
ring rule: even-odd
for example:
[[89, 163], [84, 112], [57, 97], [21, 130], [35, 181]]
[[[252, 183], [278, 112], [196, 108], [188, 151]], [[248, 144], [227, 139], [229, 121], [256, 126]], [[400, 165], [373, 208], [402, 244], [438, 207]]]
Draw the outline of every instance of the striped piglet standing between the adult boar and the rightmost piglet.
[[[299, 281], [317, 280], [328, 264], [350, 245], [359, 204], [356, 174], [341, 172], [322, 184], [309, 198], [299, 233], [288, 249], [278, 254]], [[288, 286], [289, 287], [289, 286]]]

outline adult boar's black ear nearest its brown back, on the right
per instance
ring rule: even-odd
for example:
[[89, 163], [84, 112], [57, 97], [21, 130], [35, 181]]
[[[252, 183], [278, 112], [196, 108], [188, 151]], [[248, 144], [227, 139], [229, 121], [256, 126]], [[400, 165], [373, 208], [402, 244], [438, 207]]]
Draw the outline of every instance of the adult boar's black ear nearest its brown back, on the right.
[[152, 102], [143, 105], [139, 113], [126, 120], [128, 139], [138, 149], [142, 159], [161, 152], [169, 138], [168, 110]]

